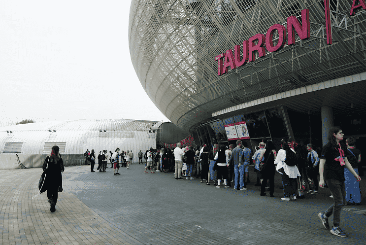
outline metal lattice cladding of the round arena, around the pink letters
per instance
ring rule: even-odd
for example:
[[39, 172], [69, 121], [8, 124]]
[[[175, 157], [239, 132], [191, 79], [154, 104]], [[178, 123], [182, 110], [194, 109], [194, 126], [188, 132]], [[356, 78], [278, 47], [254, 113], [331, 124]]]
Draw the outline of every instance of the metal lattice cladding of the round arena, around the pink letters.
[[[324, 0], [132, 0], [133, 67], [166, 117], [193, 131], [223, 108], [366, 71], [366, 11], [350, 16], [351, 6], [330, 0], [328, 45]], [[296, 35], [294, 45], [218, 76], [217, 55], [274, 24], [287, 28], [287, 17], [300, 19], [305, 8], [310, 38]]]

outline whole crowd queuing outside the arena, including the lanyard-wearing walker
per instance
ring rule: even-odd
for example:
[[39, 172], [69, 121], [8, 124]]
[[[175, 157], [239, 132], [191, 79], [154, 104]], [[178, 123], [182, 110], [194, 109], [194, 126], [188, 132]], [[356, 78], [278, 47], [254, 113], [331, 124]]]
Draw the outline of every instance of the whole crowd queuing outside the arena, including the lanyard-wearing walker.
[[[214, 144], [209, 148], [203, 144], [202, 147], [182, 148], [181, 143], [177, 143], [174, 149], [150, 148], [144, 154], [140, 150], [138, 162], [145, 164], [144, 173], [174, 172], [175, 179], [186, 177], [187, 180], [193, 180], [196, 176], [200, 182], [207, 185], [213, 183], [216, 188], [221, 185], [230, 188], [233, 182], [234, 189], [241, 191], [248, 190], [249, 166], [253, 164], [257, 178], [255, 186], [260, 186], [259, 195], [266, 196], [266, 191], [269, 191], [269, 196], [274, 197], [274, 176], [277, 172], [282, 179], [280, 188], [283, 189], [283, 201], [303, 199], [306, 193], [317, 194], [319, 187], [329, 187], [334, 204], [318, 216], [323, 226], [330, 229], [328, 218], [333, 214], [331, 233], [345, 237], [347, 235], [339, 228], [339, 214], [341, 207], [347, 203], [361, 203], [361, 178], [358, 175], [361, 152], [355, 147], [355, 139], [352, 137], [345, 141], [346, 144], [342, 143], [343, 132], [340, 128], [332, 128], [328, 140], [329, 143], [321, 153], [315, 151], [312, 144], [307, 144], [305, 148], [294, 139], [281, 140], [278, 152], [273, 142], [266, 138], [255, 151], [248, 147], [246, 141], [241, 140], [236, 141], [236, 147], [233, 144]], [[105, 172], [108, 160], [114, 164], [114, 175], [120, 175], [119, 163], [129, 169], [133, 161], [132, 151], [119, 151], [119, 148], [114, 153], [110, 151], [110, 154], [106, 150], [100, 151], [100, 172]], [[86, 164], [90, 164], [91, 172], [94, 172], [94, 150], [87, 150], [85, 156]]]

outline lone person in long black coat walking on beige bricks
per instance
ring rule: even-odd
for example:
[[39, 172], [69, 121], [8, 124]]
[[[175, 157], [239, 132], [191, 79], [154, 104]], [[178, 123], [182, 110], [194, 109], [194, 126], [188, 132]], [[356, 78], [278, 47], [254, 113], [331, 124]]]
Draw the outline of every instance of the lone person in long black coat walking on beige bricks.
[[[59, 154], [60, 148], [57, 145], [52, 147], [51, 154], [43, 162], [42, 169], [46, 172], [45, 181], [47, 184], [47, 198], [51, 204], [50, 211], [54, 212], [58, 199], [58, 191], [62, 191], [62, 174], [65, 171], [64, 161]], [[61, 188], [60, 188], [61, 187]]]

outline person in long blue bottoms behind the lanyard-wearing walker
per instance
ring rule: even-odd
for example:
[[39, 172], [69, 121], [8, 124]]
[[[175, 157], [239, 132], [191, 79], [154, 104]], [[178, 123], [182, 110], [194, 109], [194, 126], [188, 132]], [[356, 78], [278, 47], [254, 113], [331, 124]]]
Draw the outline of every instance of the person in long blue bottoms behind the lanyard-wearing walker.
[[[356, 140], [353, 137], [346, 140], [348, 161], [356, 174], [359, 174], [358, 164], [361, 162], [361, 151], [355, 148], [355, 143]], [[347, 168], [344, 169], [344, 185], [346, 188], [346, 202], [359, 205], [361, 203], [360, 183]]]

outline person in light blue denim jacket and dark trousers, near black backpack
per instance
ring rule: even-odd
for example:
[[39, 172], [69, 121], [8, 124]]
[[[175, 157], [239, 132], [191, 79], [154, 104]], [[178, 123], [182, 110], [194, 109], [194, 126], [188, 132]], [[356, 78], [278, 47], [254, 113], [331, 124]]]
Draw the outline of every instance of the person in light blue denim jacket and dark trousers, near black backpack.
[[319, 164], [319, 156], [315, 150], [313, 150], [312, 144], [307, 144], [306, 149], [307, 153], [307, 161], [306, 161], [306, 173], [307, 177], [310, 179], [311, 183], [309, 183], [309, 192], [310, 194], [316, 194], [319, 190], [319, 181], [318, 174], [316, 172], [316, 167]]

